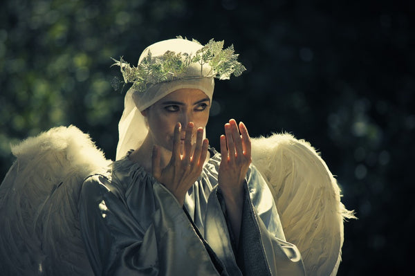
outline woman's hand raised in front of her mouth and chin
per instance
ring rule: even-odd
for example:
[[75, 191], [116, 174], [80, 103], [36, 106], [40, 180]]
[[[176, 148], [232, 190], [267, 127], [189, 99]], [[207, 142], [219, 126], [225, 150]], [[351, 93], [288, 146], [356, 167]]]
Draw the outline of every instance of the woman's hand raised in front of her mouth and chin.
[[192, 153], [193, 122], [187, 124], [183, 154], [181, 154], [181, 124], [174, 127], [172, 158], [165, 168], [160, 167], [160, 149], [154, 146], [152, 161], [152, 174], [154, 178], [174, 194], [178, 202], [183, 205], [187, 191], [200, 176], [203, 163], [208, 154], [208, 139], [203, 139], [203, 129], [196, 131], [196, 145]]

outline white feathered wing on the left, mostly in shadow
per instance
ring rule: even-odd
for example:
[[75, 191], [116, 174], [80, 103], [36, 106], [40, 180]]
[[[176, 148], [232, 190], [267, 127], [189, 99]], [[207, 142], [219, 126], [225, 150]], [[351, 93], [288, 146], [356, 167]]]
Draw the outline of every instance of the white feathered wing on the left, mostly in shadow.
[[12, 147], [17, 160], [0, 185], [4, 275], [93, 275], [77, 202], [86, 176], [109, 164], [88, 135], [57, 127]]

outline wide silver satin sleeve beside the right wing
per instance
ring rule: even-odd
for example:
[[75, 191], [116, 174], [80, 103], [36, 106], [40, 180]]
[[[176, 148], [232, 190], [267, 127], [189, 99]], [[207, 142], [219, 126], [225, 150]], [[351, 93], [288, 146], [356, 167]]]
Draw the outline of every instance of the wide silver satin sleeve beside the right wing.
[[220, 214], [219, 202], [218, 193], [212, 192], [205, 239], [230, 275], [238, 275], [239, 270], [243, 275], [305, 275], [299, 250], [285, 240], [273, 196], [254, 166], [250, 167], [246, 177], [237, 252], [232, 252], [230, 240], [224, 238], [230, 237], [230, 230], [229, 223]]

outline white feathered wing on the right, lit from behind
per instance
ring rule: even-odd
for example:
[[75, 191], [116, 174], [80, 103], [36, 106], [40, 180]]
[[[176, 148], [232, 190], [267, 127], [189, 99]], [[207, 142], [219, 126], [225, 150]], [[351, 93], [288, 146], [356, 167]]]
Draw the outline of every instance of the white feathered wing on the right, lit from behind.
[[274, 134], [252, 138], [252, 163], [273, 193], [286, 239], [301, 252], [307, 275], [335, 275], [343, 221], [354, 216], [324, 160], [308, 142]]

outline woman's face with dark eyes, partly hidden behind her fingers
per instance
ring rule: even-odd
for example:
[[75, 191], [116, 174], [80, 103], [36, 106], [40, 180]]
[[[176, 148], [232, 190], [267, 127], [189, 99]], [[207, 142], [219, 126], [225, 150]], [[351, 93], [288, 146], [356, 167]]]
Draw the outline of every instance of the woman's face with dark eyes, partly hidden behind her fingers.
[[147, 118], [149, 135], [155, 145], [171, 151], [173, 145], [174, 126], [181, 123], [181, 142], [185, 138], [188, 122], [193, 122], [193, 139], [196, 141], [196, 130], [206, 127], [209, 118], [210, 99], [199, 89], [178, 89], [151, 105], [142, 115]]

